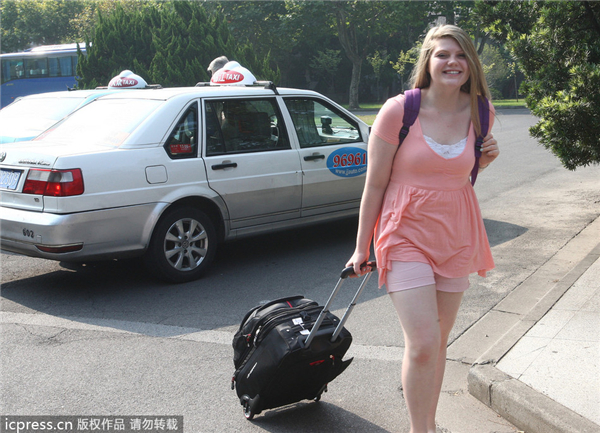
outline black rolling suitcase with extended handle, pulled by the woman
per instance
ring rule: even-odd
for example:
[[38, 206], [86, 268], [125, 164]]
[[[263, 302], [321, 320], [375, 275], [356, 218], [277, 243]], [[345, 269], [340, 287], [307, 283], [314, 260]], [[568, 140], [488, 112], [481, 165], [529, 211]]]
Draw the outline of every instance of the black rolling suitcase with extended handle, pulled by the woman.
[[[368, 264], [376, 269], [375, 262]], [[327, 384], [352, 362], [343, 360], [352, 343], [344, 324], [371, 276], [367, 273], [341, 319], [329, 308], [343, 281], [353, 274], [342, 271], [329, 300], [321, 307], [303, 296], [281, 298], [250, 310], [233, 338], [231, 389], [236, 390], [251, 420], [265, 409], [301, 400], [315, 400]]]

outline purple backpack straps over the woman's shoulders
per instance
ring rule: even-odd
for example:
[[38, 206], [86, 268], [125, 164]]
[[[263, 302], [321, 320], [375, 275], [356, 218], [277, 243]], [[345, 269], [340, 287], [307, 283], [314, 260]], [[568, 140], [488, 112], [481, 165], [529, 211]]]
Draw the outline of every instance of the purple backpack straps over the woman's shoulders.
[[[417, 120], [419, 109], [421, 108], [421, 89], [411, 89], [404, 92], [406, 97], [404, 102], [404, 117], [402, 118], [402, 129], [400, 129], [400, 144], [408, 135], [408, 130]], [[475, 185], [477, 173], [479, 172], [479, 157], [481, 156], [481, 145], [483, 137], [487, 135], [490, 125], [490, 108], [487, 98], [479, 98], [479, 123], [481, 124], [481, 134], [475, 140], [475, 165], [471, 171], [471, 185]], [[398, 145], [400, 147], [400, 145]]]

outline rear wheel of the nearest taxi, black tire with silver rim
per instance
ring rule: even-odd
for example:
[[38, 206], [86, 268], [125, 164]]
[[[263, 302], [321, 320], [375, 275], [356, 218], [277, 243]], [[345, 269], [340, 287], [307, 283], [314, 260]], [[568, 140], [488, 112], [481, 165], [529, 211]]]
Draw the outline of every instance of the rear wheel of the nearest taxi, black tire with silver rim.
[[154, 228], [145, 255], [148, 269], [175, 283], [198, 279], [210, 265], [217, 249], [212, 220], [193, 207], [167, 211]]

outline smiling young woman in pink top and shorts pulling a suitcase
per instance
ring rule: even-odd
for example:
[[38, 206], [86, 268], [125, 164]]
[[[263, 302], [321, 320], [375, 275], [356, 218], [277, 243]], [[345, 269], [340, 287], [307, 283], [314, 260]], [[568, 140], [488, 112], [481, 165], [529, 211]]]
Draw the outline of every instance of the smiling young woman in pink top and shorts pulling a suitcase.
[[[404, 95], [389, 99], [372, 128], [356, 249], [347, 266], [374, 249], [404, 332], [402, 363], [410, 433], [435, 433], [448, 336], [469, 274], [494, 267], [469, 175], [480, 131], [477, 98], [489, 90], [470, 37], [456, 26], [429, 31], [413, 72], [419, 116], [398, 148]], [[490, 105], [490, 130], [493, 107]], [[498, 156], [484, 138], [480, 170]]]

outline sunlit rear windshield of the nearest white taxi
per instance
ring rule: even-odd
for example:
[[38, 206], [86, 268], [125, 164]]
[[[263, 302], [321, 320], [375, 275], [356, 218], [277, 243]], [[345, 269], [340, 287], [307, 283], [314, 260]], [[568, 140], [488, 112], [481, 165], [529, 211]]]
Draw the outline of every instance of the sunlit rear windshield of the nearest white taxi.
[[35, 141], [118, 147], [163, 101], [98, 99], [40, 135]]

